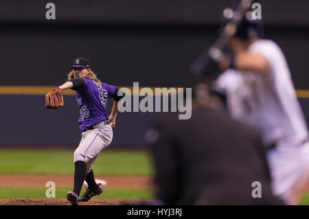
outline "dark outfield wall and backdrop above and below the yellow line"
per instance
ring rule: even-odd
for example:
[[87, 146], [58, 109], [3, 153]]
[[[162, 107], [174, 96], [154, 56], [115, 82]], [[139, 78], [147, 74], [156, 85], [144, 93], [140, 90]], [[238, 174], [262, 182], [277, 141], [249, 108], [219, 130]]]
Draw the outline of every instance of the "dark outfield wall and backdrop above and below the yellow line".
[[[56, 5], [56, 20], [45, 5]], [[118, 87], [181, 87], [189, 66], [214, 42], [220, 13], [238, 1], [0, 1], [0, 87], [52, 86], [66, 81], [74, 58], [89, 58], [99, 78]], [[266, 38], [277, 42], [297, 90], [309, 89], [309, 1], [260, 1]], [[309, 97], [309, 95], [308, 95]], [[309, 99], [299, 101], [309, 124]], [[0, 146], [76, 147], [73, 95], [47, 111], [44, 95], [2, 92]], [[111, 103], [111, 102], [110, 102]], [[109, 104], [111, 107], [111, 104]], [[144, 146], [159, 113], [119, 113], [113, 145]]]

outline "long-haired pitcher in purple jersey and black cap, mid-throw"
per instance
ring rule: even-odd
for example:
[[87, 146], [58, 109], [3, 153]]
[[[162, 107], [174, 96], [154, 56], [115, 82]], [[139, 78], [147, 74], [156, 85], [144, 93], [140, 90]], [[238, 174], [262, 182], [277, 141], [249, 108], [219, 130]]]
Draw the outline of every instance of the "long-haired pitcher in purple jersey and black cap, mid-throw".
[[[113, 130], [117, 116], [117, 102], [122, 98], [118, 95], [119, 89], [102, 83], [90, 69], [87, 58], [76, 58], [73, 69], [68, 74], [68, 81], [60, 87], [49, 91], [45, 96], [46, 108], [63, 106], [62, 90], [73, 89], [76, 91], [76, 100], [79, 106], [80, 130], [82, 139], [74, 152], [74, 187], [73, 192], [67, 193], [67, 200], [71, 205], [78, 205], [80, 201], [88, 201], [92, 196], [103, 192], [100, 184], [95, 183], [92, 170], [93, 163], [99, 152], [111, 144]], [[113, 109], [108, 116], [106, 104], [108, 98], [113, 98]], [[80, 190], [86, 180], [89, 185], [86, 192], [80, 196]]]

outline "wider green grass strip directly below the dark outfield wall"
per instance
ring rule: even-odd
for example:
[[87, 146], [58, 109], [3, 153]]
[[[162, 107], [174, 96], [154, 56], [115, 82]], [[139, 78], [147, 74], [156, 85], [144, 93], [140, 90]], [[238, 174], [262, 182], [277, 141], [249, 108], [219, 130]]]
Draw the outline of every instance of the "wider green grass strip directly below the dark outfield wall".
[[[102, 150], [93, 165], [95, 174], [150, 175], [147, 151]], [[73, 174], [73, 150], [0, 150], [0, 174]]]

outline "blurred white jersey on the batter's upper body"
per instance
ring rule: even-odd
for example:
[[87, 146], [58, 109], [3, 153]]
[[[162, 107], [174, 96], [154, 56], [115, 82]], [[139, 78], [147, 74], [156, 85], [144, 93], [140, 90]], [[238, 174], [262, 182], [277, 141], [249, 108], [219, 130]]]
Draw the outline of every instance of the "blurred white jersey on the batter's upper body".
[[266, 76], [232, 69], [222, 73], [216, 87], [227, 93], [229, 112], [258, 127], [266, 145], [304, 141], [308, 130], [282, 50], [273, 41], [258, 40], [249, 52], [264, 56], [270, 70]]

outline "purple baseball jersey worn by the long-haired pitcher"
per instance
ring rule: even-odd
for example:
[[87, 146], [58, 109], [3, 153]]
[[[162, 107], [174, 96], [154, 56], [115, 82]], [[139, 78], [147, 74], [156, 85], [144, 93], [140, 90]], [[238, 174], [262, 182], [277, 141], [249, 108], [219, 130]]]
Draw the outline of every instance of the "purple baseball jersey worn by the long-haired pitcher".
[[76, 89], [76, 100], [80, 108], [80, 130], [108, 120], [106, 111], [107, 99], [115, 93], [115, 87], [102, 83], [102, 86], [91, 78], [83, 78], [84, 86]]

